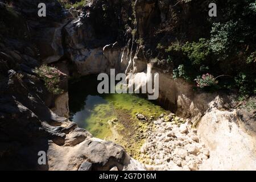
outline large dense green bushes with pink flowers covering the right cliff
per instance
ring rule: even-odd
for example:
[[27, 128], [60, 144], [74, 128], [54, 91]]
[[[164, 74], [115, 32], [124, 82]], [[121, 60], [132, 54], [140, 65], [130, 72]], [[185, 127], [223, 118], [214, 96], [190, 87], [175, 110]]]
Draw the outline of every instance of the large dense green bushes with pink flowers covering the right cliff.
[[[241, 96], [251, 96], [256, 93], [256, 2], [214, 2], [218, 5], [217, 18], [207, 18], [209, 24], [198, 28], [203, 34], [195, 38], [184, 30], [179, 32], [164, 56], [174, 65], [174, 78], [195, 80], [199, 88], [236, 89]], [[198, 76], [207, 72], [211, 75]], [[218, 76], [218, 82], [213, 76]]]

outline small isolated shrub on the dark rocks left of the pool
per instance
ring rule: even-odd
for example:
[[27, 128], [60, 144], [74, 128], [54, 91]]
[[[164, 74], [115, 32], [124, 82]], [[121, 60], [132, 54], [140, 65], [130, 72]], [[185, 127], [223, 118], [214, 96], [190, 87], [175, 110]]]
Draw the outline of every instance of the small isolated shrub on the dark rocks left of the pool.
[[36, 73], [40, 78], [43, 79], [49, 92], [55, 95], [59, 95], [64, 92], [64, 90], [59, 88], [60, 76], [63, 75], [59, 69], [55, 67], [49, 67], [47, 65], [42, 65], [41, 67], [36, 68]]

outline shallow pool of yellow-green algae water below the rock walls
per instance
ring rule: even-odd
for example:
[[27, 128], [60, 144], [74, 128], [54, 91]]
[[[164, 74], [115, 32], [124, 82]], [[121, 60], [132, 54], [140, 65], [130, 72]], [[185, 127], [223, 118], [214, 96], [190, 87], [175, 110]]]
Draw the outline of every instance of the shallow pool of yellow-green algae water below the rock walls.
[[146, 138], [143, 133], [152, 126], [149, 122], [139, 121], [136, 114], [155, 118], [168, 111], [135, 94], [99, 94], [99, 82], [97, 76], [70, 81], [71, 121], [88, 130], [93, 137], [138, 149]]

